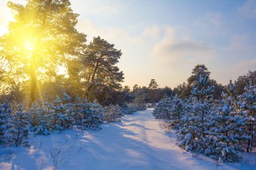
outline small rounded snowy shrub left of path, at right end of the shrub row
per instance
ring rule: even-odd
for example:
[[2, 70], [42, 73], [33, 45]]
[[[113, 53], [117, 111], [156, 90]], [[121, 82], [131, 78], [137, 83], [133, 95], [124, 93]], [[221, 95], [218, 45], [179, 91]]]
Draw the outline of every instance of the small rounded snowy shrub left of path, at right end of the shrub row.
[[123, 112], [119, 105], [108, 105], [104, 107], [103, 120], [106, 122], [120, 122]]

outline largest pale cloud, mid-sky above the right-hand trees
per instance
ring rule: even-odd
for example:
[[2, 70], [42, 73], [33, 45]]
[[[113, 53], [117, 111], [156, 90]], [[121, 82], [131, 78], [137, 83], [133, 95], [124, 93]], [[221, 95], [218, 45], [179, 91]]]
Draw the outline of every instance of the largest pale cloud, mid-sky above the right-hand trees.
[[174, 28], [166, 29], [164, 38], [155, 44], [152, 56], [160, 64], [172, 67], [196, 65], [198, 62], [210, 62], [214, 58], [214, 48], [207, 43], [189, 37], [175, 38]]

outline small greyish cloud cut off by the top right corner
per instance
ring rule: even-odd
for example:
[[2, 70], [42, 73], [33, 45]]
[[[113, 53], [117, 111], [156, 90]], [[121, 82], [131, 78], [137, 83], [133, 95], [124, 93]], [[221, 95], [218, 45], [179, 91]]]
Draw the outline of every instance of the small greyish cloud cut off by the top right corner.
[[247, 17], [256, 18], [256, 1], [248, 0], [242, 7], [239, 7], [238, 10]]

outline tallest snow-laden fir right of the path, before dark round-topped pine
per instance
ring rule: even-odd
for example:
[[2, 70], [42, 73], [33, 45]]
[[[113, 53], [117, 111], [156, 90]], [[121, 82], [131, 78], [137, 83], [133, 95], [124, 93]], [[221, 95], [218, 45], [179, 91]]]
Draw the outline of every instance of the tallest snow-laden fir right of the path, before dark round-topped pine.
[[195, 74], [196, 85], [192, 86], [191, 94], [193, 108], [187, 116], [182, 119], [183, 127], [180, 130], [179, 145], [189, 150], [196, 150], [200, 153], [207, 148], [207, 116], [211, 112], [211, 99], [214, 93], [214, 86], [209, 85], [209, 75], [200, 68], [200, 74]]

